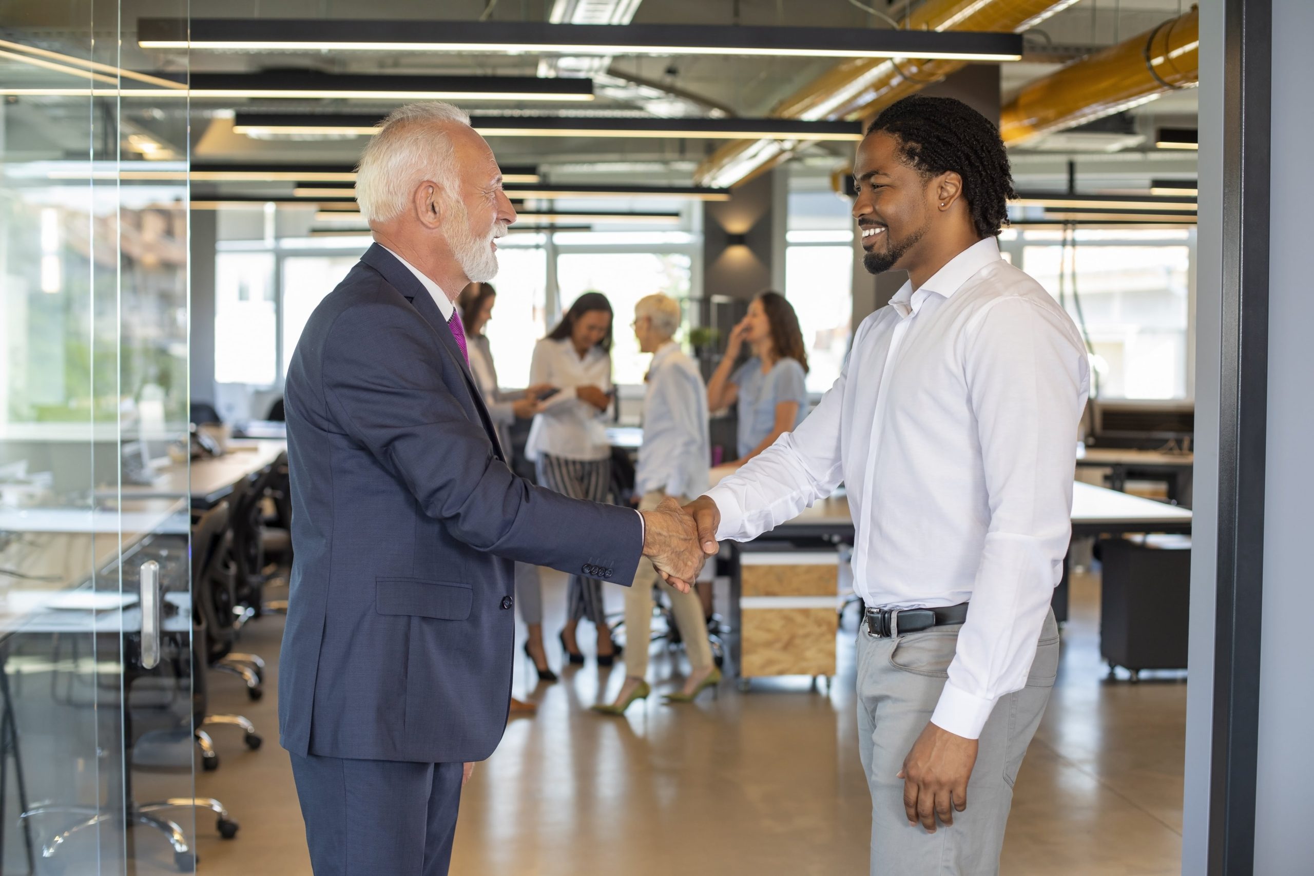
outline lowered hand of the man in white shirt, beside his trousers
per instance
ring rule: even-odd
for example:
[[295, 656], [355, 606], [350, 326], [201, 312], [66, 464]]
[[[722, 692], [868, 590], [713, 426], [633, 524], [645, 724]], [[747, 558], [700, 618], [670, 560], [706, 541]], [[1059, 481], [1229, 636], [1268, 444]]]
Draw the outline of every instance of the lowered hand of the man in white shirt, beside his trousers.
[[899, 777], [904, 780], [904, 812], [908, 823], [918, 821], [936, 833], [936, 817], [954, 823], [954, 812], [967, 809], [967, 780], [976, 764], [976, 739], [966, 739], [926, 722], [904, 758]]

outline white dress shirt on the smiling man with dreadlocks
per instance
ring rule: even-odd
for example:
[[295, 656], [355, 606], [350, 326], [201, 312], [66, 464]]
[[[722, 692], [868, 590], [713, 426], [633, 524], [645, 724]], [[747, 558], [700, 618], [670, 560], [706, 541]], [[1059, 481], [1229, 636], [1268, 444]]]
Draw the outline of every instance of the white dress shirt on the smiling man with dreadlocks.
[[1062, 575], [1088, 387], [1072, 320], [986, 238], [865, 319], [812, 415], [707, 494], [717, 538], [753, 538], [842, 481], [869, 607], [971, 602], [932, 721], [978, 738], [1026, 683]]

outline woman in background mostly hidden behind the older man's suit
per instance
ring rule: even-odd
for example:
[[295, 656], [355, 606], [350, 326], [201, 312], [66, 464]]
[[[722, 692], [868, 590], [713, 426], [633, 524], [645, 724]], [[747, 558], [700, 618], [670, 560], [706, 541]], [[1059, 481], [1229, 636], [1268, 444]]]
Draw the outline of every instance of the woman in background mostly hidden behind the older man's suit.
[[[493, 318], [497, 303], [497, 290], [487, 282], [468, 285], [457, 305], [461, 307], [461, 323], [465, 326], [466, 347], [470, 355], [470, 373], [480, 387], [484, 405], [489, 408], [493, 426], [497, 427], [502, 452], [511, 453], [511, 423], [516, 419], [530, 419], [543, 406], [539, 397], [552, 389], [548, 385], [531, 386], [524, 393], [503, 393], [498, 385], [497, 368], [493, 365], [493, 347], [484, 328]], [[557, 675], [548, 666], [547, 650], [543, 647], [543, 587], [539, 583], [539, 567], [528, 563], [515, 563], [515, 602], [520, 609], [520, 620], [530, 633], [524, 644], [526, 655], [533, 661], [540, 682], [556, 682]], [[518, 711], [518, 700], [511, 701], [511, 711]], [[527, 711], [523, 707], [519, 711]]]

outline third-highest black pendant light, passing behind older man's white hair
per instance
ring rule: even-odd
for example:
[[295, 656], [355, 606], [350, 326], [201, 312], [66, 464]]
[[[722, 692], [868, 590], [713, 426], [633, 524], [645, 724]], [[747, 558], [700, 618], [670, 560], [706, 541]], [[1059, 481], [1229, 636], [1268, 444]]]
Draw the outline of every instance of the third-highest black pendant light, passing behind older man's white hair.
[[[275, 116], [238, 113], [234, 134], [371, 135], [380, 116]], [[862, 139], [862, 122], [809, 122], [783, 118], [570, 118], [560, 116], [473, 116], [470, 125], [484, 137], [615, 137], [740, 139], [777, 138], [809, 141]]]

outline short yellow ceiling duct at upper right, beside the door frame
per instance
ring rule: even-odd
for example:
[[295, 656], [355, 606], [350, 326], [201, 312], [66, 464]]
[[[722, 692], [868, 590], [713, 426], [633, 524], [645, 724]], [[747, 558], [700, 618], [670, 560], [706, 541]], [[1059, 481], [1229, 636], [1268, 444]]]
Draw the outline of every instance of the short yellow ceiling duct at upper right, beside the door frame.
[[1200, 84], [1200, 13], [1196, 8], [1039, 79], [1000, 113], [1013, 146], [1139, 106]]

